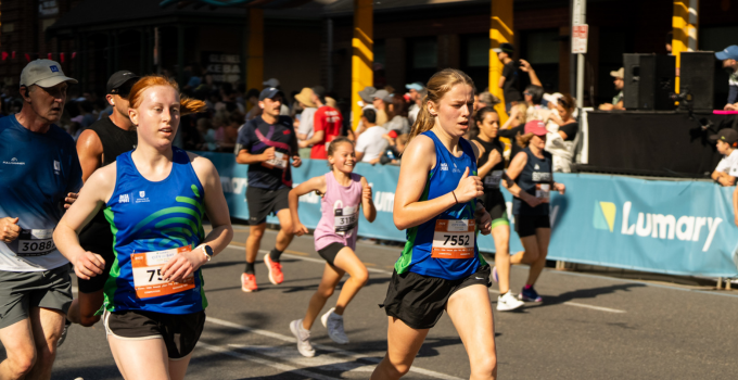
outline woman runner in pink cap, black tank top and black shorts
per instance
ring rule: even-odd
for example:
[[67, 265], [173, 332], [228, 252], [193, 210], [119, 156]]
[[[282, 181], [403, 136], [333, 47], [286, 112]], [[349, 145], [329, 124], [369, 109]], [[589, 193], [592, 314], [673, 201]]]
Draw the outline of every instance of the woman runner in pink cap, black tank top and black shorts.
[[554, 181], [551, 154], [544, 151], [546, 145], [546, 127], [540, 121], [525, 124], [525, 134], [518, 136], [518, 144], [523, 151], [518, 153], [508, 168], [508, 176], [520, 187], [520, 191], [510, 189], [516, 197], [512, 214], [516, 216], [516, 232], [523, 244], [523, 252], [510, 257], [511, 264], [527, 264], [531, 270], [525, 287], [519, 295], [523, 301], [542, 302], [543, 299], [533, 289], [546, 265], [548, 243], [551, 240], [549, 219], [549, 192], [563, 194], [567, 187]]

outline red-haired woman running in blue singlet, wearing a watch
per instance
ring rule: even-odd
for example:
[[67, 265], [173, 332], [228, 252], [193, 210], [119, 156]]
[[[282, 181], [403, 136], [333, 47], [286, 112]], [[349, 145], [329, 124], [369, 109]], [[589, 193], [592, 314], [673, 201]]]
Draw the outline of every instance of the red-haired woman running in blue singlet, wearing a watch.
[[[231, 241], [228, 205], [209, 160], [171, 145], [182, 114], [204, 103], [180, 99], [177, 84], [141, 78], [130, 91], [138, 147], [98, 169], [54, 232], [79, 278], [102, 274], [104, 259], [77, 233], [104, 211], [114, 236], [105, 282], [104, 325], [126, 379], [183, 379], [205, 324], [200, 267]], [[207, 214], [213, 230], [205, 236]]]

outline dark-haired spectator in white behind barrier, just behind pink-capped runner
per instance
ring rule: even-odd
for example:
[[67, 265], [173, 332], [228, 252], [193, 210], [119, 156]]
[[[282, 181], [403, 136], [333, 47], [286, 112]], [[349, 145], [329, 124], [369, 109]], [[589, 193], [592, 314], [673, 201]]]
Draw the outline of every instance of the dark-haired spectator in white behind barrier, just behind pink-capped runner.
[[546, 151], [554, 156], [554, 172], [570, 173], [574, 157], [574, 139], [580, 131], [580, 124], [573, 116], [576, 110], [574, 98], [564, 93], [558, 100], [557, 110], [560, 118], [549, 117], [555, 123], [552, 128], [547, 128]]

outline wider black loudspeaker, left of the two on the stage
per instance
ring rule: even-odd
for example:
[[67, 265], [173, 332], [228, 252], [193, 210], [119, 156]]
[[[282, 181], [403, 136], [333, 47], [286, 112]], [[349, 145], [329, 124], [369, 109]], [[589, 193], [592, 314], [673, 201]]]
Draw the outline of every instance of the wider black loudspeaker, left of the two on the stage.
[[676, 58], [656, 54], [623, 54], [626, 110], [674, 110], [670, 93], [674, 92]]

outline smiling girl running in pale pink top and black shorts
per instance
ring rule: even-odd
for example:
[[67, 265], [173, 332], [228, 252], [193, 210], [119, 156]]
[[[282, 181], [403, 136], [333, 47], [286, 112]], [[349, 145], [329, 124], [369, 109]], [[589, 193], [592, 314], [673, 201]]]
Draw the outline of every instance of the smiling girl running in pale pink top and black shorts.
[[298, 198], [311, 191], [322, 195], [320, 201], [322, 217], [314, 235], [315, 249], [326, 259], [326, 269], [318, 290], [310, 299], [305, 317], [290, 324], [290, 330], [297, 338], [297, 350], [307, 357], [315, 355], [309, 341], [313, 322], [346, 273], [351, 278], [341, 289], [335, 307], [320, 319], [334, 342], [348, 343], [343, 329], [343, 312], [369, 278], [367, 267], [354, 253], [359, 207], [364, 206], [364, 216], [369, 223], [377, 217], [377, 208], [371, 200], [371, 188], [367, 179], [352, 173], [356, 164], [354, 143], [345, 137], [333, 140], [328, 147], [328, 164], [331, 172], [325, 176], [310, 178], [290, 191], [290, 213], [296, 236], [308, 232], [297, 215]]

